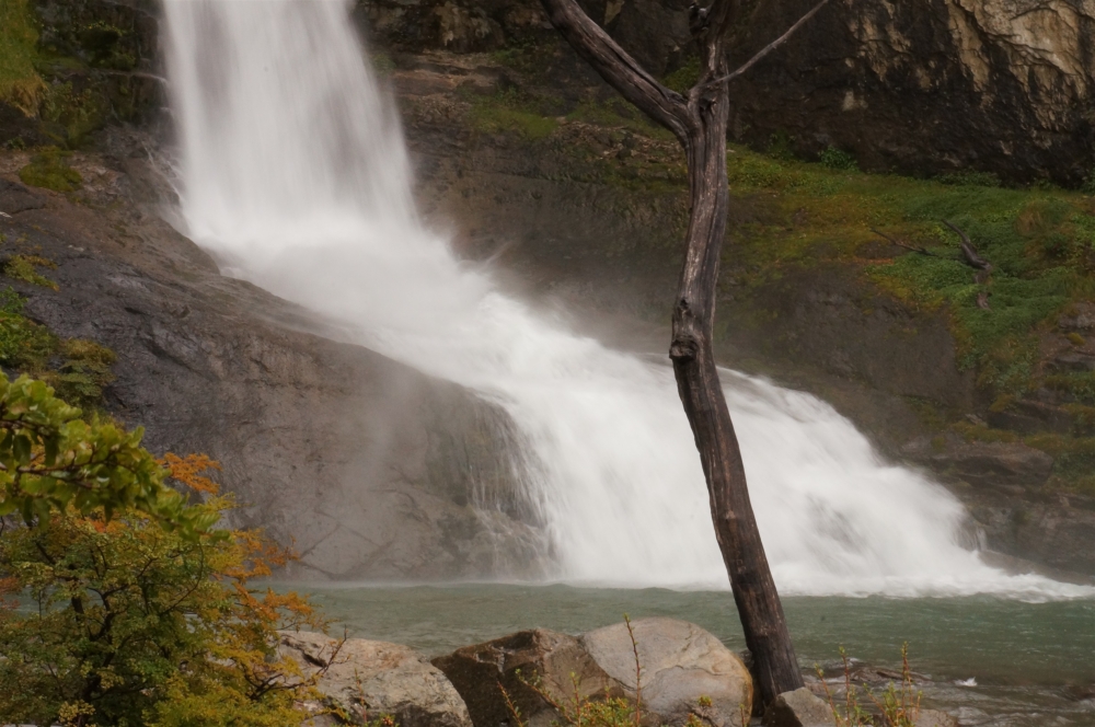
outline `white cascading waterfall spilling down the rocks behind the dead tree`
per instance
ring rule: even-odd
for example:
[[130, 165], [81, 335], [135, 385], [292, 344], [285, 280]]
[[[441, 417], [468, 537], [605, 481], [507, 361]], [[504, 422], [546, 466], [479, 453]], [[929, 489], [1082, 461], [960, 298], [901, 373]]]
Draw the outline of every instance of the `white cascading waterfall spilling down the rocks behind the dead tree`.
[[[725, 587], [671, 369], [538, 318], [424, 228], [347, 3], [165, 7], [186, 232], [227, 274], [504, 406], [564, 579]], [[983, 565], [956, 544], [959, 504], [826, 404], [725, 381], [783, 592], [1082, 592]]]

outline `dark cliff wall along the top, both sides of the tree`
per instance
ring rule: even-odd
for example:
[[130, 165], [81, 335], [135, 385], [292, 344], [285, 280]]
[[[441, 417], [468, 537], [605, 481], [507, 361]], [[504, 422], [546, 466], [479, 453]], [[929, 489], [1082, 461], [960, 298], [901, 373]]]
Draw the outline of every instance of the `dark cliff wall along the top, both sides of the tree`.
[[[812, 0], [758, 3], [744, 61]], [[683, 0], [586, 3], [658, 76], [694, 64]], [[558, 43], [534, 0], [360, 0], [381, 47], [458, 53]], [[804, 158], [833, 146], [864, 169], [1079, 185], [1095, 172], [1095, 2], [842, 0], [735, 81], [731, 135]], [[576, 65], [562, 81], [596, 83]], [[683, 69], [683, 70], [682, 70]]]

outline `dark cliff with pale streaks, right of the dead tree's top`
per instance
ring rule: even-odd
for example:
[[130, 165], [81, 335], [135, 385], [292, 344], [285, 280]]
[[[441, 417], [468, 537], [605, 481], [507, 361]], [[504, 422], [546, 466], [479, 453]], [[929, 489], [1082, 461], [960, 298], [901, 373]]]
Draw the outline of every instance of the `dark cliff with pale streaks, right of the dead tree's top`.
[[[737, 57], [810, 4], [761, 3]], [[1091, 0], [840, 2], [738, 82], [734, 132], [877, 171], [1080, 184], [1095, 171], [1093, 33]]]

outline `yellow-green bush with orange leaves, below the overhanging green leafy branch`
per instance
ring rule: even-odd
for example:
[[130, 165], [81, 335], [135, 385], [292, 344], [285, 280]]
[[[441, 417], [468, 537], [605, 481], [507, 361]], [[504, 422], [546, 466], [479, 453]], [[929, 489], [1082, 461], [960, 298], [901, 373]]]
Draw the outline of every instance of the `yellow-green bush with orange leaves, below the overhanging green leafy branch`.
[[[211, 463], [168, 464], [186, 478]], [[197, 487], [207, 518], [231, 507]], [[295, 595], [247, 587], [285, 557], [255, 532], [187, 538], [136, 510], [107, 519], [66, 508], [4, 532], [0, 573], [30, 608], [0, 611], [0, 713], [37, 724], [300, 724], [293, 702], [308, 683], [277, 654], [276, 631], [322, 623]]]

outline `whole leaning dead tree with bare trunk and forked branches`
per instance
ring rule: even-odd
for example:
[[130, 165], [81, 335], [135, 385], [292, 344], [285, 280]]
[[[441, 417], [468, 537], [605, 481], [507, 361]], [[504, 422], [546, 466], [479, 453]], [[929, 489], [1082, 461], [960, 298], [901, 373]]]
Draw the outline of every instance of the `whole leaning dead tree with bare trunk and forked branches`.
[[781, 692], [803, 686], [803, 677], [749, 501], [741, 452], [712, 349], [715, 285], [729, 205], [729, 83], [786, 42], [828, 0], [735, 70], [728, 60], [733, 34], [746, 22], [756, 0], [714, 0], [707, 8], [693, 5], [689, 26], [700, 53], [701, 71], [700, 80], [687, 95], [667, 89], [644, 70], [586, 15], [576, 0], [542, 2], [552, 25], [578, 55], [627, 101], [672, 131], [684, 148], [691, 215], [669, 356], [700, 450], [715, 536], [753, 656], [761, 697], [770, 703]]

